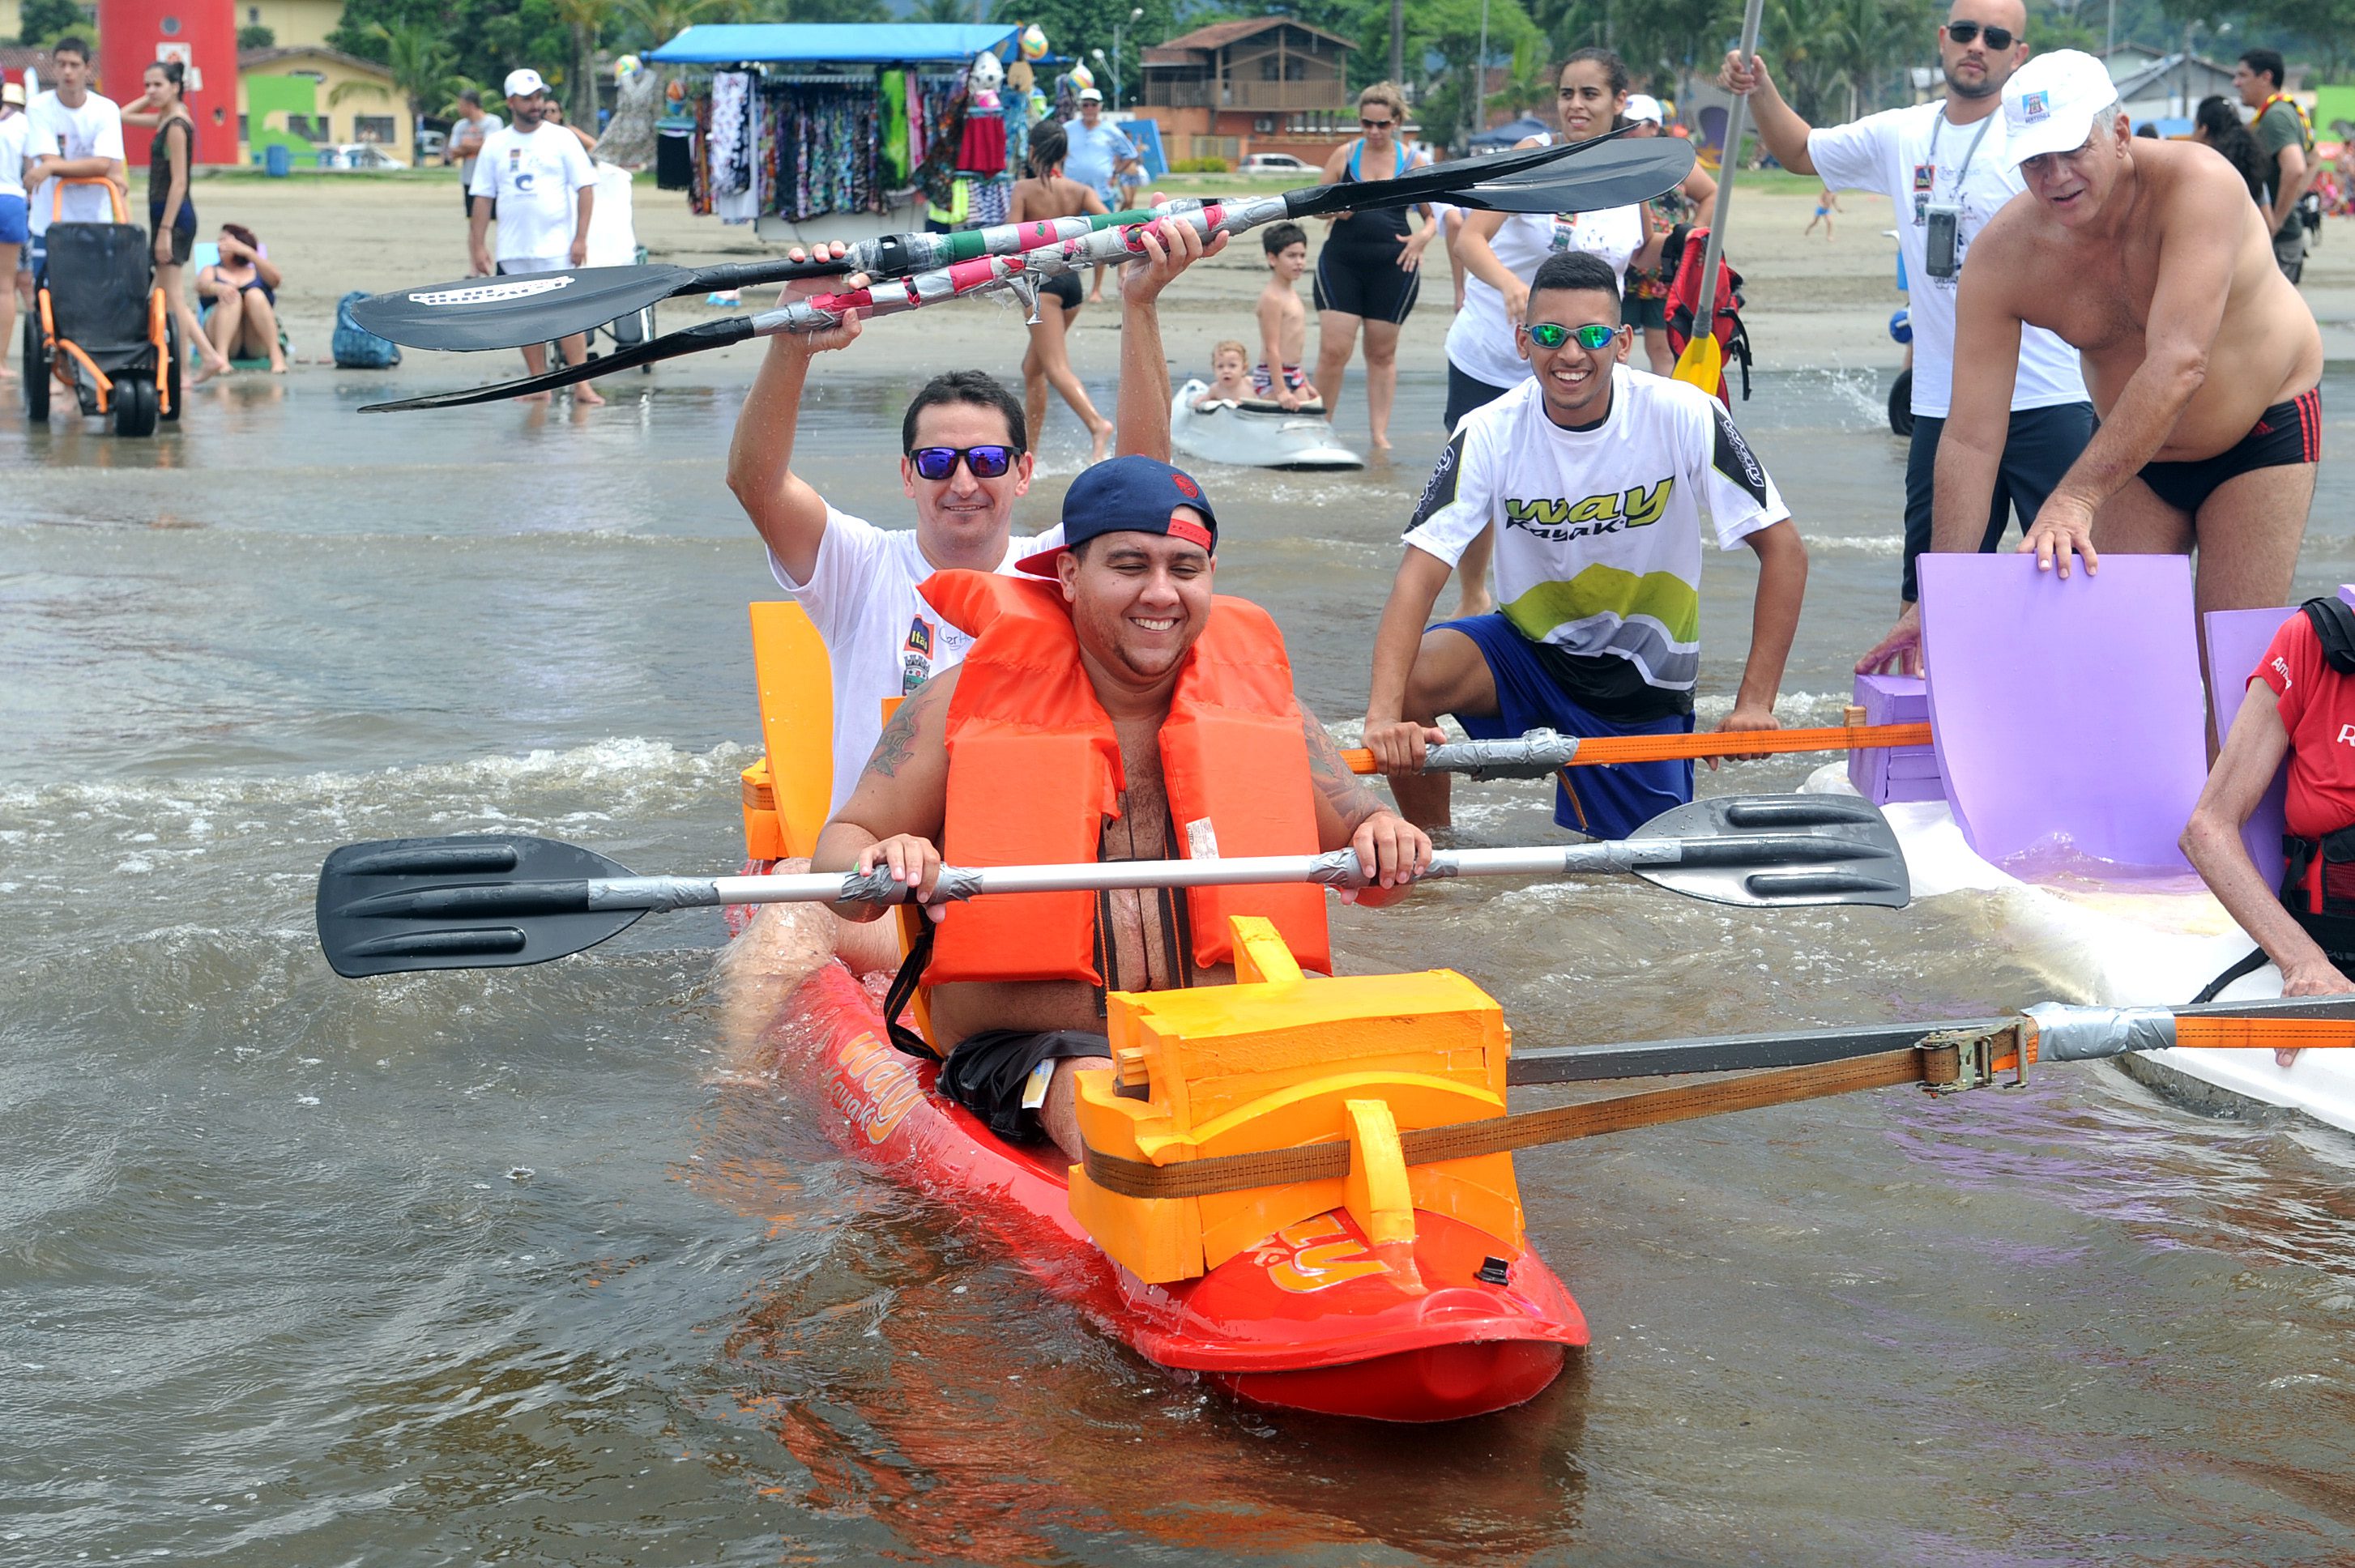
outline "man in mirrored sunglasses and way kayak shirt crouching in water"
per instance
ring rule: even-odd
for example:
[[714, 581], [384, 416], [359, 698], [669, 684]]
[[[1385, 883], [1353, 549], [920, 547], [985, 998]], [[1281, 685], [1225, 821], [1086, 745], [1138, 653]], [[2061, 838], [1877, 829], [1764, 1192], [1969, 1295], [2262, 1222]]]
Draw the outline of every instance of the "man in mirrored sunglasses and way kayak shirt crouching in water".
[[[1533, 374], [1455, 426], [1406, 532], [1373, 643], [1366, 746], [1415, 826], [1448, 824], [1422, 753], [1453, 713], [1481, 739], [1681, 735], [1700, 680], [1700, 527], [1759, 558], [1750, 662], [1719, 730], [1773, 730], [1806, 546], [1726, 407], [1627, 365], [1618, 275], [1550, 257], [1517, 332]], [[1495, 527], [1491, 614], [1429, 626], [1465, 549]], [[1693, 798], [1693, 765], [1580, 768], [1554, 822], [1592, 838]]]

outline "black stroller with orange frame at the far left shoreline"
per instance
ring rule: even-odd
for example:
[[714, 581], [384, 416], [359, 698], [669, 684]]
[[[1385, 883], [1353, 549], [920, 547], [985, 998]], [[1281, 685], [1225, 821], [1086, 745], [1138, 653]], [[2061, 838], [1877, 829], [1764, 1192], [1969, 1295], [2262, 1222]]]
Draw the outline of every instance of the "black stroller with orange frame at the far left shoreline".
[[[106, 179], [61, 179], [49, 207], [49, 259], [24, 318], [24, 410], [49, 417], [57, 370], [85, 414], [113, 414], [115, 436], [153, 436], [179, 419], [179, 325], [155, 287], [148, 231], [125, 221]], [[66, 186], [106, 186], [113, 224], [64, 224]]]

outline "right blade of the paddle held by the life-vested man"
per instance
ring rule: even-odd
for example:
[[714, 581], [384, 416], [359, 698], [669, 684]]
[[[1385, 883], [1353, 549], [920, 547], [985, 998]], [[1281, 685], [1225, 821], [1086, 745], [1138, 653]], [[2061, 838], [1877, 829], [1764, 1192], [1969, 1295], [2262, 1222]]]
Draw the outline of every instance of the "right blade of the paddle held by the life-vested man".
[[[1637, 144], [1641, 146], [1641, 144]], [[1889, 819], [1849, 796], [1724, 796], [1660, 812], [1634, 833], [1684, 838], [1672, 866], [1637, 876], [1712, 904], [1879, 904], [1905, 909], [1912, 878]]]

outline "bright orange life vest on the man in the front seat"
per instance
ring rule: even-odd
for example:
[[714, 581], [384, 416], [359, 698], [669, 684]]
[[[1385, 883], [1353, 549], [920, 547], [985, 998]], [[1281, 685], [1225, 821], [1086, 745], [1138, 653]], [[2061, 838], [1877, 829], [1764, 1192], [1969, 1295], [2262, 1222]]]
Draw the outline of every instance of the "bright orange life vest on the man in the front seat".
[[[1119, 817], [1121, 744], [1079, 662], [1062, 589], [991, 572], [937, 572], [918, 589], [975, 633], [949, 699], [942, 857], [958, 866], [1093, 862]], [[1309, 749], [1283, 633], [1258, 605], [1218, 596], [1161, 723], [1161, 777], [1187, 859], [1314, 855]], [[1229, 963], [1227, 916], [1267, 916], [1305, 968], [1331, 970], [1324, 888], [1194, 888], [1194, 963]], [[1097, 972], [1095, 895], [1024, 892], [951, 904], [928, 986], [958, 979], [1086, 979]]]

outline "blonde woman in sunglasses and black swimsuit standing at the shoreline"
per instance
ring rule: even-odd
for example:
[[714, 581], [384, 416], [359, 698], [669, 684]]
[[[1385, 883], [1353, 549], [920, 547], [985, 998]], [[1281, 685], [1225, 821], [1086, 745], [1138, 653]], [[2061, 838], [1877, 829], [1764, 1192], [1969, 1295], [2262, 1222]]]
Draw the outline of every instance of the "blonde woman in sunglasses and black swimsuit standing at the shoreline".
[[[1326, 160], [1324, 184], [1397, 179], [1413, 155], [1399, 141], [1406, 97], [1392, 82], [1356, 94], [1356, 122], [1366, 134]], [[1340, 403], [1340, 381], [1366, 327], [1366, 431], [1375, 450], [1389, 450], [1389, 405], [1399, 393], [1399, 325], [1415, 308], [1422, 283], [1422, 247], [1439, 233], [1432, 210], [1420, 207], [1422, 228], [1406, 212], [1342, 212], [1331, 219], [1316, 257], [1316, 386], [1326, 410]]]

